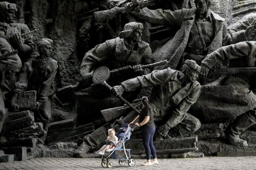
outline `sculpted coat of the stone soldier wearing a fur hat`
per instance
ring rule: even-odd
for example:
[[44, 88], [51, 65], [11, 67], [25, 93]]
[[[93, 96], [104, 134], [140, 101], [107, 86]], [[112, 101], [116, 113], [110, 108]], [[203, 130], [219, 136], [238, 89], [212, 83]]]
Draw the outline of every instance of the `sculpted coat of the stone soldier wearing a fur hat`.
[[[81, 64], [81, 74], [90, 73], [101, 65], [112, 70], [127, 65], [152, 63], [152, 52], [148, 43], [138, 42], [132, 49], [128, 49], [126, 45], [129, 46], [119, 37], [97, 45], [85, 54]], [[122, 80], [127, 79], [125, 75], [122, 77]]]

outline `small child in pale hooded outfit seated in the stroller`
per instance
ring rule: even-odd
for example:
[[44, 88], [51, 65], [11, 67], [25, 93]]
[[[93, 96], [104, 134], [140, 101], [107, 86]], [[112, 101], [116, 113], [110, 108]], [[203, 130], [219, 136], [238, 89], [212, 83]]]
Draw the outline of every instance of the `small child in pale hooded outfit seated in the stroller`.
[[[104, 155], [105, 151], [110, 152], [113, 150], [112, 148], [115, 147], [112, 143], [117, 143], [117, 136], [115, 135], [115, 129], [108, 129], [108, 137], [106, 140], [106, 145], [103, 145], [100, 150], [96, 151], [95, 153]], [[111, 142], [111, 143], [110, 143]]]

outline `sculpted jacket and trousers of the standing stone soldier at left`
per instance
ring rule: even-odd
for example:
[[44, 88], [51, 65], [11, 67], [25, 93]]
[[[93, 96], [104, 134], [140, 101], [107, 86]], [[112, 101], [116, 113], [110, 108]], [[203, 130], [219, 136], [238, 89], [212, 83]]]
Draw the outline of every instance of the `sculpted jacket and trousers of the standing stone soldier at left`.
[[[47, 57], [43, 59], [32, 59], [24, 63], [19, 81], [16, 82], [16, 91], [36, 90], [37, 101], [43, 104], [35, 113], [36, 122], [43, 123], [43, 129], [47, 132], [51, 120], [51, 102], [48, 100], [50, 87], [57, 73], [57, 61]], [[46, 135], [43, 137], [45, 140]]]

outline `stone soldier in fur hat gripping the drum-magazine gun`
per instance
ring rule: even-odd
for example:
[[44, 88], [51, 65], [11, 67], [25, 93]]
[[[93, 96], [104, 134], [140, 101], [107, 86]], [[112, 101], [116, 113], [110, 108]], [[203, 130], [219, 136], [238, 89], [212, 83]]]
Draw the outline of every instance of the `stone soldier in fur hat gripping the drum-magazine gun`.
[[[110, 70], [127, 65], [136, 65], [134, 67], [135, 73], [128, 73], [111, 79], [108, 82], [110, 86], [120, 84], [131, 77], [150, 72], [147, 68], [142, 69], [140, 65], [152, 63], [151, 48], [148, 43], [141, 41], [142, 29], [143, 25], [141, 23], [127, 23], [124, 31], [120, 32], [119, 37], [107, 40], [85, 53], [80, 73], [83, 78], [90, 80], [89, 85], [93, 83], [91, 80], [93, 70], [103, 64]], [[94, 86], [87, 88], [86, 91], [91, 96], [110, 96], [110, 92], [102, 85], [94, 84]]]

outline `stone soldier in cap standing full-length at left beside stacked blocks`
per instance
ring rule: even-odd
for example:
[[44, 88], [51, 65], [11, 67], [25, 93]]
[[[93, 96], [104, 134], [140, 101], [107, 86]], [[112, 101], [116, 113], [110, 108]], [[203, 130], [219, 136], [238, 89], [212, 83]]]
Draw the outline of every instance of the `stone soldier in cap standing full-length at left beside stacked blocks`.
[[[19, 80], [15, 83], [15, 94], [11, 100], [12, 107], [17, 109], [15, 100], [19, 93], [26, 90], [37, 91], [37, 111], [34, 112], [35, 122], [42, 122], [47, 132], [51, 120], [51, 101], [48, 99], [50, 87], [57, 73], [57, 61], [50, 58], [53, 41], [41, 39], [37, 43], [39, 56], [24, 63]], [[44, 142], [46, 134], [41, 138]]]

